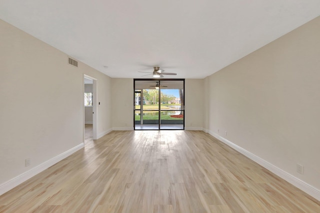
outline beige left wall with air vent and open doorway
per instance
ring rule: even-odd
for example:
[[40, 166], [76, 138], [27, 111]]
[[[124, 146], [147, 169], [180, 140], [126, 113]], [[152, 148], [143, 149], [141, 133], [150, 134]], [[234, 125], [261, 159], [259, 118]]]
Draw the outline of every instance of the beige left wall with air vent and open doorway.
[[83, 74], [97, 79], [98, 134], [111, 129], [111, 79], [2, 20], [0, 73], [0, 185], [82, 144]]

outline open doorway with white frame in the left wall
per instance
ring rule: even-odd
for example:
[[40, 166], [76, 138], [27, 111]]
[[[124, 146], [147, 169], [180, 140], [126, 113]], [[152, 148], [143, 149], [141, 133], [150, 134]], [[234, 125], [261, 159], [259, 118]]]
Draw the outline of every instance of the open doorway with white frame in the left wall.
[[96, 79], [83, 76], [83, 143], [96, 140]]

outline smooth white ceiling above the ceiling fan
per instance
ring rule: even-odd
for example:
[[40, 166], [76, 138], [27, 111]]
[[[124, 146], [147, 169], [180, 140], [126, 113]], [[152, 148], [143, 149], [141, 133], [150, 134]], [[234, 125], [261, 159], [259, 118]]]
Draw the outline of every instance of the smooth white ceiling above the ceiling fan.
[[204, 78], [318, 15], [320, 0], [0, 0], [0, 19], [115, 78]]

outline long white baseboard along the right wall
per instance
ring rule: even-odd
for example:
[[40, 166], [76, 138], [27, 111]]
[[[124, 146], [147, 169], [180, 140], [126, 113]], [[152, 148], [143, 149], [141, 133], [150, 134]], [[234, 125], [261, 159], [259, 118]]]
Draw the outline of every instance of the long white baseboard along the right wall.
[[213, 137], [219, 139], [224, 144], [228, 145], [229, 147], [231, 147], [234, 150], [238, 151], [239, 153], [243, 154], [247, 158], [251, 159], [255, 163], [257, 163], [257, 164], [261, 165], [262, 167], [264, 167], [265, 169], [269, 170], [273, 174], [279, 176], [283, 180], [289, 182], [290, 184], [292, 184], [293, 186], [299, 188], [300, 190], [302, 190], [306, 194], [308, 194], [308, 195], [312, 196], [313, 198], [315, 198], [316, 200], [320, 201], [320, 190], [319, 189], [317, 189], [317, 188], [305, 183], [304, 181], [301, 181], [300, 179], [294, 177], [293, 175], [281, 170], [280, 168], [270, 164], [269, 162], [267, 162], [267, 161], [255, 156], [255, 155], [253, 155], [252, 153], [248, 152], [247, 150], [239, 147], [236, 144], [233, 144], [232, 142], [230, 142], [230, 141], [226, 140], [225, 138], [217, 135], [216, 133], [214, 133], [212, 131], [209, 131], [208, 133], [210, 135], [212, 135]]

